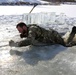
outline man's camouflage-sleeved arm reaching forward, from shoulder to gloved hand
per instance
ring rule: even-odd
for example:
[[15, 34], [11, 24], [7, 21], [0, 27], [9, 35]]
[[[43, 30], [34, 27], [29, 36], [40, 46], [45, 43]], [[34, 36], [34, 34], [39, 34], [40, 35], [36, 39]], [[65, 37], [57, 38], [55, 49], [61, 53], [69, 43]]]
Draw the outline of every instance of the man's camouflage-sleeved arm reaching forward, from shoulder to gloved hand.
[[35, 40], [36, 37], [36, 28], [33, 26], [29, 29], [28, 37], [25, 40], [14, 42], [9, 41], [9, 46], [16, 46], [16, 47], [22, 47], [22, 46], [28, 46], [28, 45], [36, 45], [38, 41]]

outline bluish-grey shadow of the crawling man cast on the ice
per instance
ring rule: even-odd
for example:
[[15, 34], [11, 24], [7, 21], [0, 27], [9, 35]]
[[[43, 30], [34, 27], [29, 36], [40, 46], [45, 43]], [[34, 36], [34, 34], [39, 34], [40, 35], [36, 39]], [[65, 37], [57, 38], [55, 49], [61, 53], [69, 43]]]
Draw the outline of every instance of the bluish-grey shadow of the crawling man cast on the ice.
[[39, 61], [48, 61], [53, 59], [58, 53], [64, 51], [65, 47], [60, 45], [35, 47], [27, 46], [24, 48], [14, 48], [10, 50], [11, 55], [20, 56], [27, 64], [36, 65]]

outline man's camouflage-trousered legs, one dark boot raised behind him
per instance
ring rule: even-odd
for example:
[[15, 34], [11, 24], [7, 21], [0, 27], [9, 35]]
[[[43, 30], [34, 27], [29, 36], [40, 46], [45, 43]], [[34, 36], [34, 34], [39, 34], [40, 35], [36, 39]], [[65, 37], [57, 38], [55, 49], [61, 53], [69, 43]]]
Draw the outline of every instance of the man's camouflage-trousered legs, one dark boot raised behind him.
[[69, 37], [68, 37], [67, 41], [65, 41], [57, 31], [51, 30], [51, 34], [53, 36], [53, 41], [55, 42], [55, 44], [60, 44], [65, 47], [71, 47], [71, 46], [76, 45], [76, 43], [73, 41], [75, 33], [76, 33], [76, 27], [74, 26], [72, 28], [72, 32], [70, 33], [70, 35], [68, 35]]

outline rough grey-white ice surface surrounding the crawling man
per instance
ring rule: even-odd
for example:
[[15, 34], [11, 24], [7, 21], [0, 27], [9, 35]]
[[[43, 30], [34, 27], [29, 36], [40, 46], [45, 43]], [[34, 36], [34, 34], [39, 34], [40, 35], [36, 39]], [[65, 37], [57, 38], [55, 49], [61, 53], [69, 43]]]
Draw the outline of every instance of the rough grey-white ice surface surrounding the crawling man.
[[[40, 26], [65, 33], [75, 25], [75, 18], [61, 18], [57, 15], [50, 18], [50, 14], [45, 17], [47, 19], [53, 18], [53, 20], [44, 24], [46, 21], [42, 18], [40, 19], [42, 21], [37, 21]], [[20, 21], [26, 22], [27, 19], [24, 20], [23, 16], [0, 16], [0, 75], [76, 75], [76, 46], [69, 48], [60, 45], [22, 48], [8, 46], [9, 40], [20, 39], [15, 26]], [[32, 14], [31, 16], [35, 18], [37, 15]], [[62, 24], [60, 24], [60, 19], [55, 21], [57, 18], [63, 20]], [[35, 21], [33, 19], [27, 20], [28, 23], [37, 23]]]

